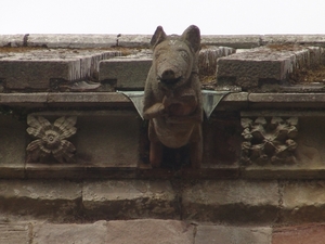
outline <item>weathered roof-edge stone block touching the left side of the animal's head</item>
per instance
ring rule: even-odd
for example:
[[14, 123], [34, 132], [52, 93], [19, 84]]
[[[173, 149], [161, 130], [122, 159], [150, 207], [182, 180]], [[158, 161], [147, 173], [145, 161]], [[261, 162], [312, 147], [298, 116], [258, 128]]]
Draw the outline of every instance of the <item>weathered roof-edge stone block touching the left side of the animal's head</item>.
[[100, 62], [100, 81], [117, 80], [117, 89], [143, 89], [152, 59], [112, 59]]

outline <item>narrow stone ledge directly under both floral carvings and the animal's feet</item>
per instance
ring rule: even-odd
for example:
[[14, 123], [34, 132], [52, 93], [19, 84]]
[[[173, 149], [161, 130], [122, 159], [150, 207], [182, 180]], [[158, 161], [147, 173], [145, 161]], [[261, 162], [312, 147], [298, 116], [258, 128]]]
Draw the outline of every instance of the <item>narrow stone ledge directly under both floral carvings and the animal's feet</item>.
[[324, 167], [301, 168], [295, 166], [214, 167], [199, 170], [148, 169], [138, 167], [80, 166], [66, 164], [26, 164], [26, 166], [0, 166], [2, 179], [324, 179]]

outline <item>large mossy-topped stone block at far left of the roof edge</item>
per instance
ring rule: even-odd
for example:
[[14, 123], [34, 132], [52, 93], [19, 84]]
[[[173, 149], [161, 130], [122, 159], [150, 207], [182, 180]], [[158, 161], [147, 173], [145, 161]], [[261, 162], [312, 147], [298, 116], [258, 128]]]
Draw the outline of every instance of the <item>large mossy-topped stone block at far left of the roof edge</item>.
[[[4, 53], [0, 59], [0, 79], [8, 90], [49, 90], [50, 80], [74, 81], [98, 73], [99, 62], [120, 55], [119, 51], [73, 51], [27, 49]], [[57, 81], [58, 82], [58, 81]]]

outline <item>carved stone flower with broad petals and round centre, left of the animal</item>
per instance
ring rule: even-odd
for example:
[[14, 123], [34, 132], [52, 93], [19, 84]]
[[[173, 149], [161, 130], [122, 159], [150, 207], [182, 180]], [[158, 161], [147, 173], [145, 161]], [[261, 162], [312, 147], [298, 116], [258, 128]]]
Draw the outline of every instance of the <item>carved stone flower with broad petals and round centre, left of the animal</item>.
[[27, 162], [47, 162], [53, 156], [57, 162], [73, 162], [76, 147], [65, 139], [76, 133], [77, 117], [61, 117], [52, 125], [42, 116], [27, 117], [27, 132], [37, 140], [27, 145]]

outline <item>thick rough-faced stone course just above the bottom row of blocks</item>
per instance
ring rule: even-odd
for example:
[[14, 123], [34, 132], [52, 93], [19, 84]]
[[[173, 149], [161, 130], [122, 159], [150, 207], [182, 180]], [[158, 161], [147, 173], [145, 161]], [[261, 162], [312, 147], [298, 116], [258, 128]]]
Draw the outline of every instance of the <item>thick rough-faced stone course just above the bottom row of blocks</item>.
[[0, 213], [20, 220], [184, 219], [236, 224], [324, 221], [324, 180], [1, 180]]

